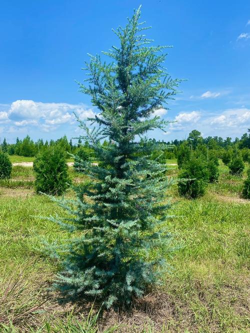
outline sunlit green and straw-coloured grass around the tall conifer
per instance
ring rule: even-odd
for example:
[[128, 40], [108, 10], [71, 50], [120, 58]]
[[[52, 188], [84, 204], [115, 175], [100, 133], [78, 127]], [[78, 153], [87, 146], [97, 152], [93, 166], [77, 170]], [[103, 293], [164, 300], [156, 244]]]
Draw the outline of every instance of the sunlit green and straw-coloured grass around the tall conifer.
[[[31, 167], [14, 166], [11, 179], [0, 181], [0, 332], [248, 332], [250, 202], [240, 198], [242, 178], [219, 167], [219, 181], [204, 197], [180, 198], [176, 185], [167, 193], [176, 216], [166, 224], [177, 249], [167, 255], [171, 269], [163, 284], [128, 312], [102, 311], [97, 318], [97, 304], [91, 312], [91, 304], [63, 303], [48, 290], [58, 264], [43, 253], [41, 237], [66, 233], [39, 216], [63, 211], [34, 194]], [[176, 166], [169, 174], [176, 175]], [[72, 168], [70, 177], [84, 178]]]

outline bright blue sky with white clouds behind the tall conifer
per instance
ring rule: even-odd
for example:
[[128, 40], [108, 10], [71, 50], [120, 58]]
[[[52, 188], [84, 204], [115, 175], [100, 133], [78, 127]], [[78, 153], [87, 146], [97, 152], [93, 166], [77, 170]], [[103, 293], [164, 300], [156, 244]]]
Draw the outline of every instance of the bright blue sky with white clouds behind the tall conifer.
[[96, 110], [74, 80], [84, 79], [87, 53], [117, 45], [111, 28], [139, 4], [148, 37], [173, 45], [169, 73], [187, 79], [170, 109], [158, 111], [176, 122], [148, 136], [184, 138], [194, 128], [241, 136], [250, 127], [249, 0], [12, 0], [0, 6], [0, 139], [77, 136], [72, 112]]

